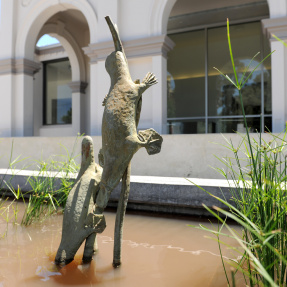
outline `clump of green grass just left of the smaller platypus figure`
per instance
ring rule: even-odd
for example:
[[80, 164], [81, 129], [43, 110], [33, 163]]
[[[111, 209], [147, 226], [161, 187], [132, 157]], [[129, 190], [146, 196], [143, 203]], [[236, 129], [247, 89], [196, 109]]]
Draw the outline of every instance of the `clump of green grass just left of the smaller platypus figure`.
[[38, 172], [28, 179], [32, 190], [29, 192], [29, 201], [21, 224], [30, 225], [34, 221], [44, 220], [65, 207], [73, 185], [71, 178], [79, 171], [79, 165], [75, 161], [78, 157], [75, 155], [78, 140], [79, 137], [76, 138], [71, 153], [62, 145], [66, 154], [61, 155], [60, 160], [52, 157], [48, 161], [37, 161]]

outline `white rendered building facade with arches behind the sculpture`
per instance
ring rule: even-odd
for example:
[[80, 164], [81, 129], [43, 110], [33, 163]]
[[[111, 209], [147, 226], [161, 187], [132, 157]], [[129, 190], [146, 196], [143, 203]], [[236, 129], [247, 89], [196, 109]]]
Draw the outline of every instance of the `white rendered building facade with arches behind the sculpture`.
[[[132, 77], [142, 79], [151, 71], [159, 79], [159, 84], [143, 95], [139, 128], [153, 127], [164, 134], [167, 112], [166, 55], [173, 47], [173, 43], [166, 37], [166, 31], [175, 2], [2, 0], [0, 137], [76, 136], [83, 132], [101, 134], [101, 103], [110, 86], [104, 61], [113, 50], [111, 34], [104, 19], [107, 15], [118, 24]], [[269, 33], [271, 48], [276, 49], [272, 55], [274, 132], [282, 131], [287, 121], [286, 48], [272, 40], [272, 33], [283, 40], [287, 39], [286, 3], [286, 0], [268, 0], [270, 19], [262, 21], [264, 30]], [[68, 18], [55, 16], [59, 12], [68, 13], [71, 9], [81, 13], [79, 23], [82, 26], [69, 22]], [[40, 58], [48, 59], [49, 55], [35, 56], [35, 45], [44, 33], [50, 33], [61, 41], [71, 61], [74, 103], [73, 124], [70, 126], [42, 126], [42, 106], [39, 100], [42, 83], [35, 81], [41, 78]], [[55, 56], [55, 53], [50, 56]]]

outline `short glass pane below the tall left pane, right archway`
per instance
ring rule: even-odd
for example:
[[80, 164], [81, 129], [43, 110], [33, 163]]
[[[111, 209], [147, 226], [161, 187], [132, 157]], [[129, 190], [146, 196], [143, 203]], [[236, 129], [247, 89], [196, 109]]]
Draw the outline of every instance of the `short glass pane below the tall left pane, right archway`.
[[175, 120], [168, 121], [169, 134], [204, 134], [205, 120]]

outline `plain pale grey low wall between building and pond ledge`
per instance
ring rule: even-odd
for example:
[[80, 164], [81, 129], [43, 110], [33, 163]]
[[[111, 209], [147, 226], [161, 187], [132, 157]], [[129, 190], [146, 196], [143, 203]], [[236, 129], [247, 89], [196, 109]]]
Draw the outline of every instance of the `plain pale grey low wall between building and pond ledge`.
[[[254, 134], [256, 138], [258, 137]], [[224, 134], [238, 146], [241, 137], [237, 134]], [[196, 135], [164, 135], [162, 150], [159, 154], [149, 156], [144, 148], [140, 149], [132, 160], [132, 175], [165, 176], [165, 177], [193, 177], [222, 179], [222, 175], [214, 168], [225, 168], [218, 158], [233, 157], [226, 148], [226, 141], [221, 134]], [[269, 140], [269, 136], [263, 137]], [[101, 147], [101, 137], [92, 137], [95, 154]], [[21, 137], [0, 138], [0, 168], [9, 166], [12, 151], [12, 161], [17, 157], [23, 159], [14, 165], [16, 168], [37, 169], [40, 160], [49, 158], [61, 160], [59, 155], [66, 155], [67, 151], [74, 155], [80, 154], [80, 142], [73, 137]], [[12, 147], [13, 143], [13, 147]], [[80, 157], [77, 158], [80, 162]]]

